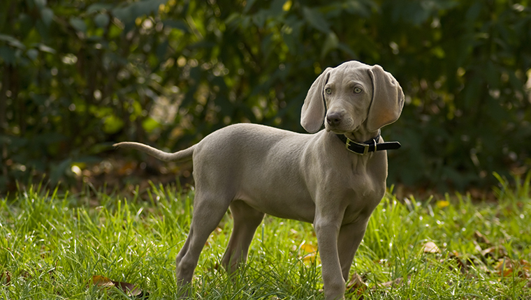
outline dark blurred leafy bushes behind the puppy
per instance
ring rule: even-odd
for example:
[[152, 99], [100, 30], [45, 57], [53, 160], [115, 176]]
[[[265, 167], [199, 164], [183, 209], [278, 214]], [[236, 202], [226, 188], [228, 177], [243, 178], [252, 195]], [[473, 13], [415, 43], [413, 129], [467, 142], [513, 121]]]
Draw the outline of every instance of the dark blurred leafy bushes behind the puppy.
[[388, 183], [490, 186], [492, 172], [531, 165], [529, 4], [3, 0], [0, 193], [42, 174], [111, 174], [117, 141], [176, 151], [248, 121], [303, 132], [307, 89], [351, 59], [383, 66], [406, 94], [383, 130], [402, 143]]

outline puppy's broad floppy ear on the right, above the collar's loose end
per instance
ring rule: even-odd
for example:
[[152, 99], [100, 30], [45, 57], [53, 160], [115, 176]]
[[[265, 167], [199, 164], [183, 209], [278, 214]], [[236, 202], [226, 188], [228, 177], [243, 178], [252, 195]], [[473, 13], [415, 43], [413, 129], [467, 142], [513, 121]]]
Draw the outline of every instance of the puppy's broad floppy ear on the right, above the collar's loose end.
[[374, 65], [369, 70], [372, 79], [372, 103], [367, 118], [367, 129], [376, 131], [398, 120], [404, 107], [402, 87], [391, 73]]

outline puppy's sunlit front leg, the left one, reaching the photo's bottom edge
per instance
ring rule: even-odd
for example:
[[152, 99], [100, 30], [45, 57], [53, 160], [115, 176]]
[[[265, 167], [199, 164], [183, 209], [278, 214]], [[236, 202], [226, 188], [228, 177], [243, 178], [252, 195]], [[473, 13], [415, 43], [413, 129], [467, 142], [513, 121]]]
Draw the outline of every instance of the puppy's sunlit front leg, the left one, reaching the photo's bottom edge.
[[322, 262], [324, 297], [326, 300], [344, 299], [345, 280], [342, 276], [340, 257], [337, 253], [337, 236], [342, 214], [317, 216], [314, 221], [319, 256]]

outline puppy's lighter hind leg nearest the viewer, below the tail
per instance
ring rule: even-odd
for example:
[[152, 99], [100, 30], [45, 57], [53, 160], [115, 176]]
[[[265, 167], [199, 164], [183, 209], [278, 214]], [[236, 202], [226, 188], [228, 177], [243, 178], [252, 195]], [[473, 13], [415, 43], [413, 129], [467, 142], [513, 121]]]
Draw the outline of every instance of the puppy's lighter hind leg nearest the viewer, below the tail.
[[[201, 250], [203, 250], [208, 237], [216, 229], [221, 218], [223, 218], [230, 202], [231, 200], [220, 199], [218, 195], [212, 193], [205, 194], [199, 190], [196, 192], [190, 232], [175, 259], [178, 288], [182, 288], [191, 282]], [[185, 297], [187, 295], [181, 296]]]

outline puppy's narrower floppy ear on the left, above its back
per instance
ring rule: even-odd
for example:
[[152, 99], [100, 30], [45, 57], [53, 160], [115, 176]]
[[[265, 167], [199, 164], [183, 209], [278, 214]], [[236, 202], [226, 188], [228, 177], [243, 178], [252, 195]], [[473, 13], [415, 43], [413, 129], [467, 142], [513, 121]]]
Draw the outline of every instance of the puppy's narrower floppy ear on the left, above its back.
[[312, 87], [308, 90], [304, 100], [303, 110], [300, 113], [300, 125], [309, 132], [317, 133], [324, 121], [325, 100], [324, 85], [328, 82], [330, 71], [333, 68], [326, 68], [319, 77], [314, 81]]

